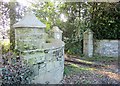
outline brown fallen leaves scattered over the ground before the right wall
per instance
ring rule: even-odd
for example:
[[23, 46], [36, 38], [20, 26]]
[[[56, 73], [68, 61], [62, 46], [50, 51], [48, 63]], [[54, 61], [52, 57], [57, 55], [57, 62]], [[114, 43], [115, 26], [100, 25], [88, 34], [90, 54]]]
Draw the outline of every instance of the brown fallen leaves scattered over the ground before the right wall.
[[74, 62], [65, 62], [67, 64], [65, 67], [68, 67], [69, 64], [74, 67], [73, 69], [72, 66], [70, 67], [71, 69], [68, 71], [71, 73], [64, 75], [61, 84], [120, 84], [118, 65], [113, 63], [105, 64], [105, 67], [92, 67]]

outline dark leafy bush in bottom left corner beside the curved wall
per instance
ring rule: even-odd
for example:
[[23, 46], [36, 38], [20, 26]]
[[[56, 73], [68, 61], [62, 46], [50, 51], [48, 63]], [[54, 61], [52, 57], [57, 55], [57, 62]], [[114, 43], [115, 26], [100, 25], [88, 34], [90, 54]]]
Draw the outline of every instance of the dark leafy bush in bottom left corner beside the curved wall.
[[28, 84], [31, 80], [31, 74], [31, 68], [29, 66], [22, 66], [20, 60], [15, 62], [15, 64], [4, 64], [2, 69], [2, 83]]

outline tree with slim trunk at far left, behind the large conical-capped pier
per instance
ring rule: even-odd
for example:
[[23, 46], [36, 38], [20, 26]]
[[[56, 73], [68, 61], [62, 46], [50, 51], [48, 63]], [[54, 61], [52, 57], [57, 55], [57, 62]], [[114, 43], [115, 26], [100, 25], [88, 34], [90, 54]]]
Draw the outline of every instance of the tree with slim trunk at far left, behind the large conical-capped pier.
[[[3, 27], [2, 29], [7, 29], [6, 26], [10, 26], [10, 30], [8, 30], [10, 37], [10, 50], [14, 50], [15, 48], [15, 28], [13, 28], [13, 24], [15, 24], [19, 19], [21, 19], [22, 14], [27, 10], [25, 6], [21, 6], [16, 1], [10, 2], [0, 2], [1, 8], [1, 17], [0, 24]], [[4, 32], [7, 33], [7, 32]]]

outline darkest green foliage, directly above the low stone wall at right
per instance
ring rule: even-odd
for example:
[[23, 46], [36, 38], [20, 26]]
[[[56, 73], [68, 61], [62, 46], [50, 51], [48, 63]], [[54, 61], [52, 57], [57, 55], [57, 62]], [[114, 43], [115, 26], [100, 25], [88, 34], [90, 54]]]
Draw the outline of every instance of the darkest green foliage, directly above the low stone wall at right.
[[97, 39], [119, 39], [120, 3], [94, 3], [91, 29]]

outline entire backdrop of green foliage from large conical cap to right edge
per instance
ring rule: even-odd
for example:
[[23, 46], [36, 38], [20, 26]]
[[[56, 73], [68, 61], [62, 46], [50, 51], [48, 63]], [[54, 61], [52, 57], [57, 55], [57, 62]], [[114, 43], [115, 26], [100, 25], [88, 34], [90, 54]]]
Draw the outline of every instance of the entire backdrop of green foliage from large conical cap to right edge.
[[[115, 6], [114, 6], [115, 5]], [[37, 17], [47, 25], [47, 31], [57, 25], [63, 30], [65, 51], [69, 54], [82, 53], [83, 32], [90, 28], [97, 39], [117, 39], [119, 28], [118, 3], [43, 2], [33, 4]], [[60, 14], [67, 17], [64, 22]]]

